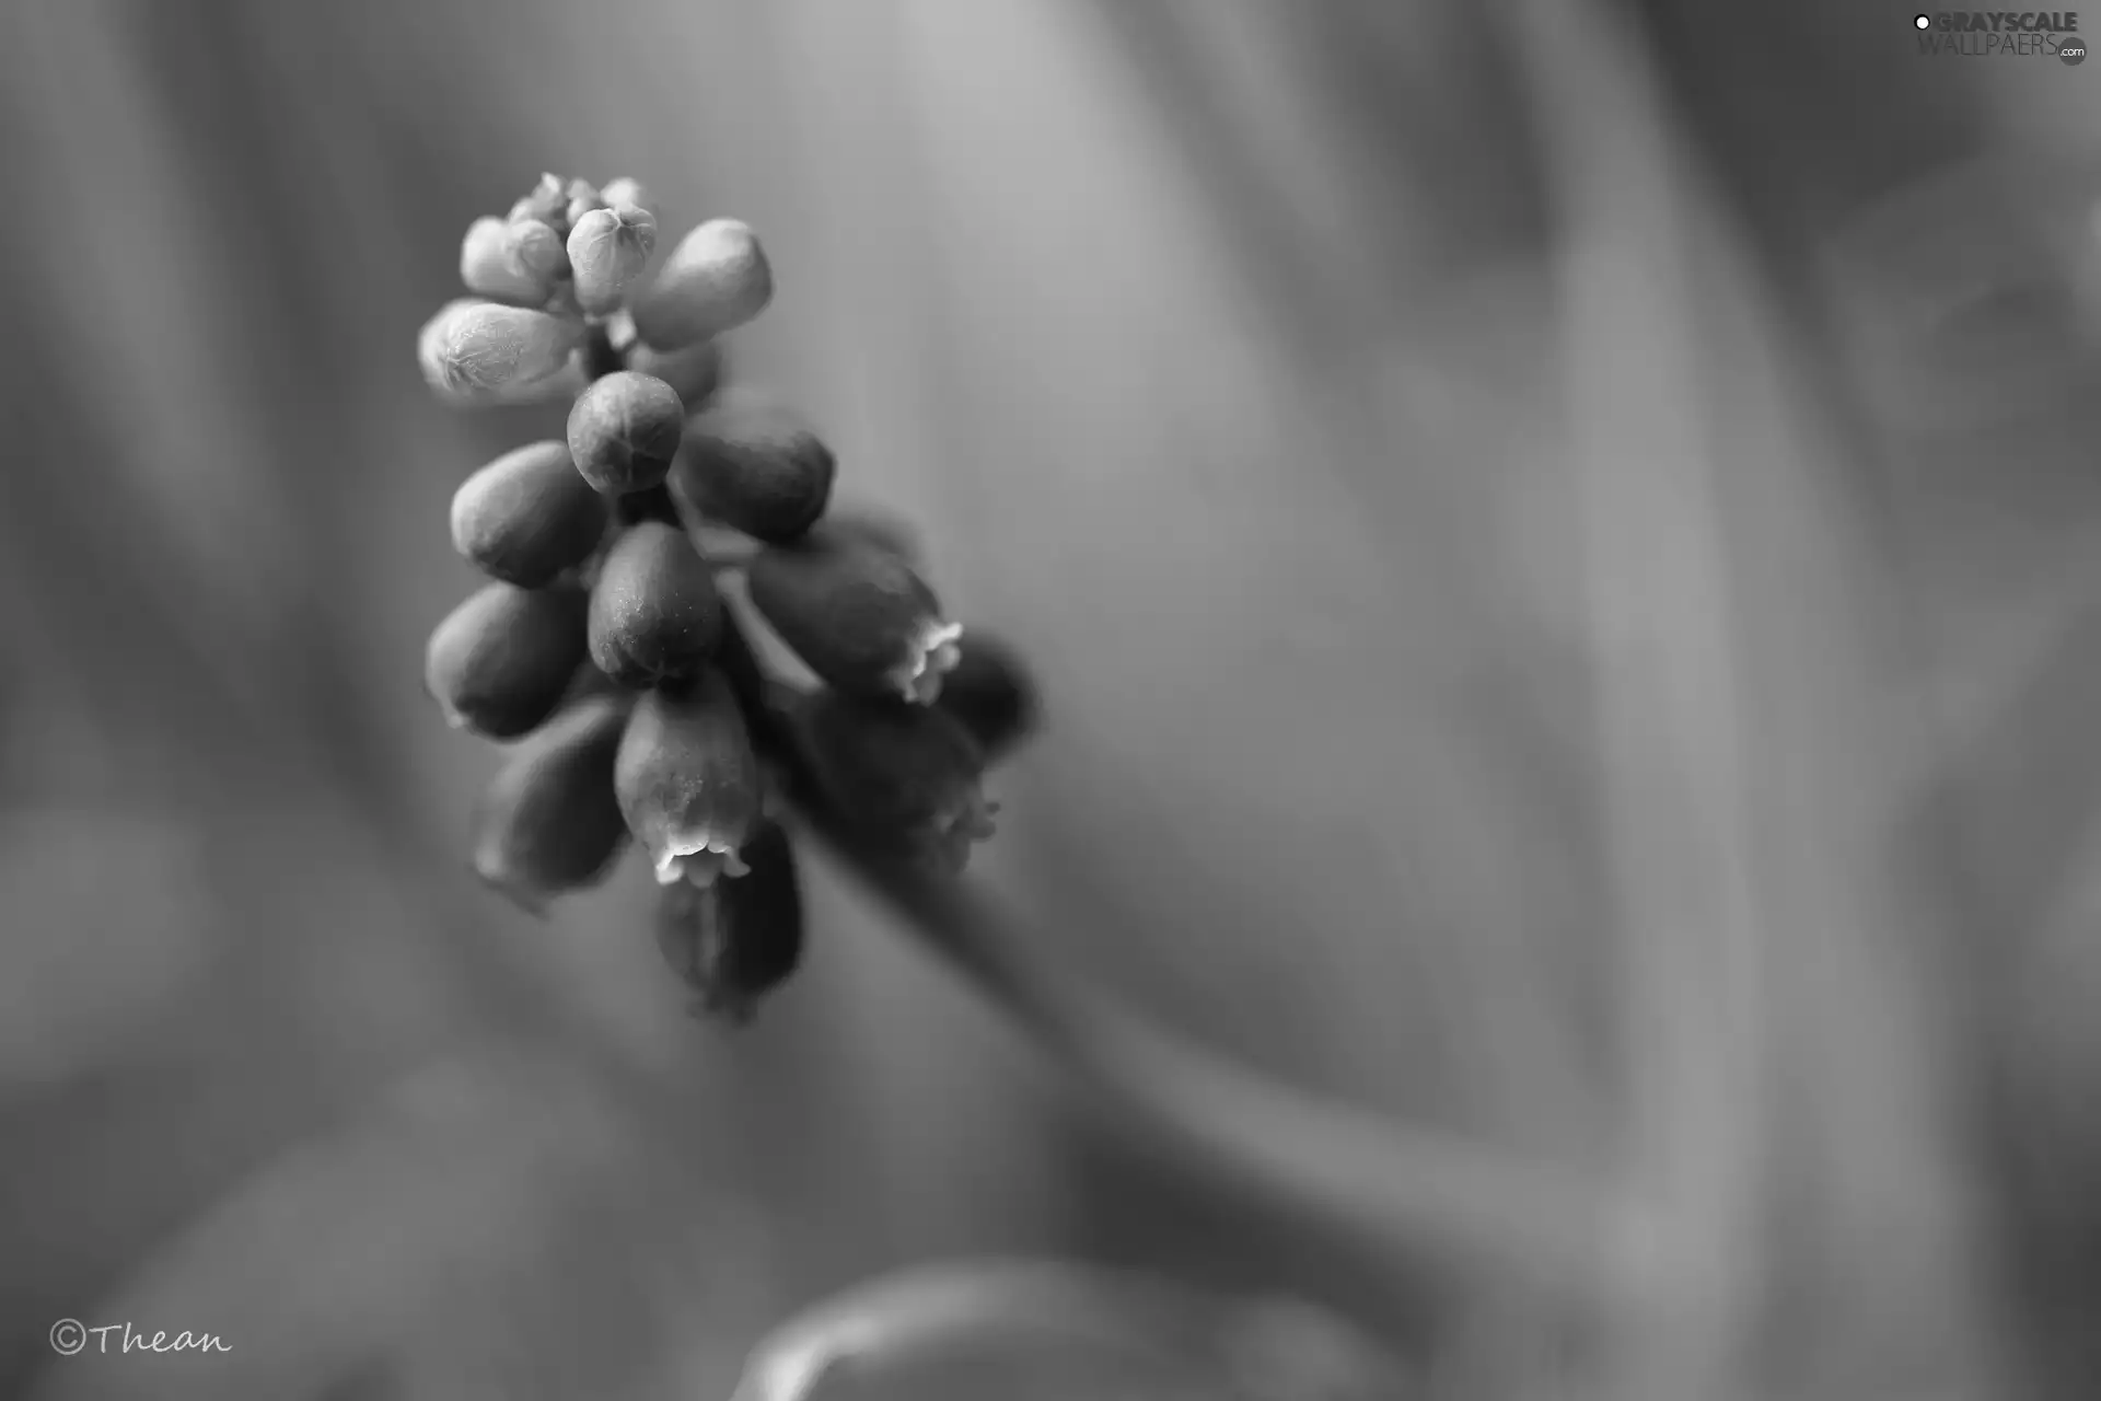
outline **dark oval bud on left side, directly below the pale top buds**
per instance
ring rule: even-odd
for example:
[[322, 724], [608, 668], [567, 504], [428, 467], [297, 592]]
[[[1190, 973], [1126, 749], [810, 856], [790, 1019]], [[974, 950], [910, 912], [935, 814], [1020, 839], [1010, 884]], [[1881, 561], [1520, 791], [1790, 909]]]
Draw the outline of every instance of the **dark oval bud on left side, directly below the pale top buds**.
[[452, 546], [519, 588], [550, 584], [590, 559], [603, 538], [605, 498], [553, 439], [506, 452], [452, 496]]

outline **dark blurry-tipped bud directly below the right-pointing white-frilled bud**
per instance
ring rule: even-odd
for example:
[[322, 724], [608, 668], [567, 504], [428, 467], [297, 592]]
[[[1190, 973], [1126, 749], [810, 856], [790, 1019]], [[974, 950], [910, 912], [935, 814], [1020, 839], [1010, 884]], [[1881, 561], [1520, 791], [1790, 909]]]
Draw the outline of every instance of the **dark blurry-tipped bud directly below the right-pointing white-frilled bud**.
[[819, 691], [794, 708], [794, 735], [817, 794], [864, 838], [960, 872], [992, 836], [983, 754], [945, 710]]

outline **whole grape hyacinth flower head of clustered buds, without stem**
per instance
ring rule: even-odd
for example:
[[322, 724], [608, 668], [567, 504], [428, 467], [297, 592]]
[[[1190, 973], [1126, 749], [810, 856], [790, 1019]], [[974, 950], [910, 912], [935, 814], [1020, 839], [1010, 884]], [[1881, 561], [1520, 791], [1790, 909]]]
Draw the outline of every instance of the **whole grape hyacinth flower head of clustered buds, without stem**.
[[[666, 960], [742, 1019], [800, 962], [784, 823], [960, 872], [1034, 689], [943, 615], [903, 531], [830, 510], [800, 414], [723, 384], [723, 336], [773, 296], [752, 229], [702, 223], [651, 269], [656, 246], [628, 179], [548, 174], [466, 229], [471, 296], [422, 328], [424, 378], [466, 407], [569, 399], [569, 420], [454, 496], [452, 544], [490, 582], [431, 634], [424, 681], [456, 729], [513, 746], [475, 872], [540, 912], [641, 846]], [[815, 685], [763, 664], [763, 630]]]

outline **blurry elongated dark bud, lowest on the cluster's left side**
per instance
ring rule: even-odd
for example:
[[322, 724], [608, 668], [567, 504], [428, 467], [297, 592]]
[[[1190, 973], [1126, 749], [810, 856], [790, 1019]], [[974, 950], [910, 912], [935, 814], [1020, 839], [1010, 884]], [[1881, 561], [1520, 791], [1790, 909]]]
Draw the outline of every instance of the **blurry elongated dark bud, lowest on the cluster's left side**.
[[595, 695], [519, 744], [475, 809], [477, 876], [538, 914], [611, 870], [628, 840], [613, 798], [626, 723], [624, 697]]

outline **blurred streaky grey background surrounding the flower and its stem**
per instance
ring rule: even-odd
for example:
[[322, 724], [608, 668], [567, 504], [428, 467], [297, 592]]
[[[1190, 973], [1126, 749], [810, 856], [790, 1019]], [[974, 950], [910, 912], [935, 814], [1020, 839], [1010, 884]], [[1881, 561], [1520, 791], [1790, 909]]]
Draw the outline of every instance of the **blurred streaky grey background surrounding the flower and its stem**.
[[[2097, 1395], [2101, 69], [1908, 25], [0, 8], [0, 1393], [725, 1397], [832, 1290], [1040, 1252], [1326, 1302], [1422, 1397]], [[540, 170], [750, 221], [733, 376], [1036, 660], [977, 878], [1038, 952], [1632, 1145], [1698, 1338], [1208, 1187], [824, 865], [735, 1036], [639, 870], [473, 882], [445, 504], [559, 412], [412, 340]]]

